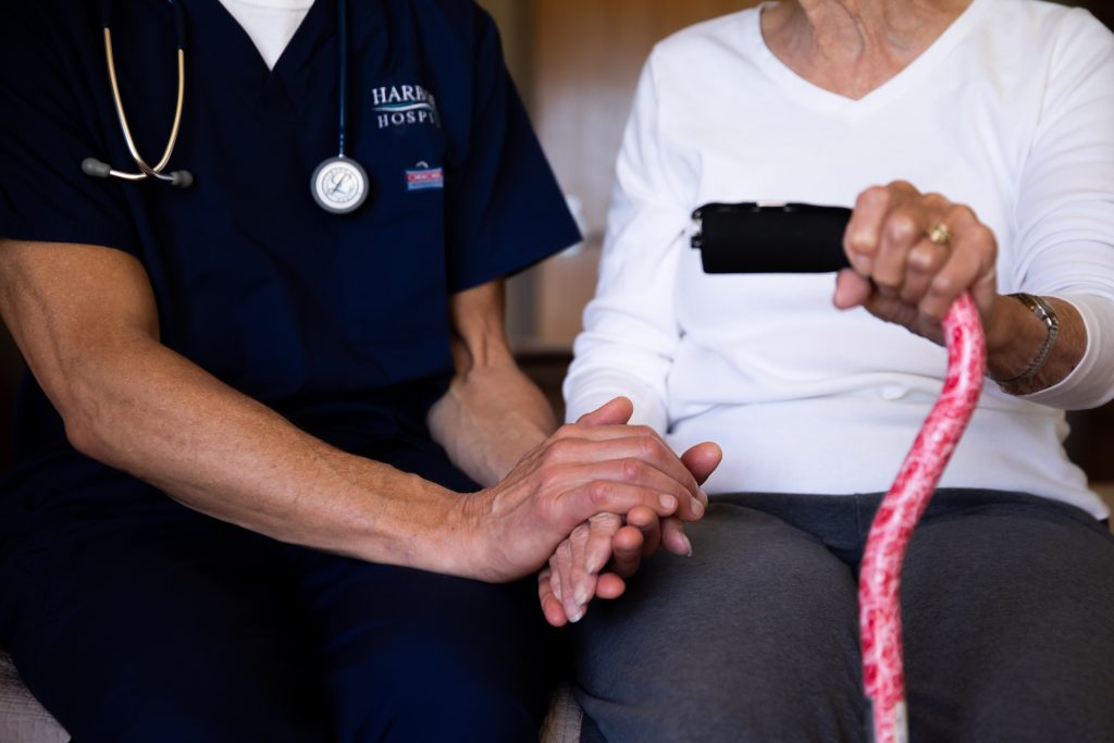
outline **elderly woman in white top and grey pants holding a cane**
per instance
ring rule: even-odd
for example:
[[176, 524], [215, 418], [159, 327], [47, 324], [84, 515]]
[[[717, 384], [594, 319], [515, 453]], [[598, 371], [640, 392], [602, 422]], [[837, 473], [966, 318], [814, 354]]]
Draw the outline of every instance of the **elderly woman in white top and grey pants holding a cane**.
[[[692, 211], [766, 199], [853, 206], [853, 270], [705, 275]], [[1114, 540], [1062, 447], [1114, 397], [1114, 39], [1029, 0], [788, 0], [653, 52], [565, 392], [724, 460], [695, 556], [623, 599], [588, 607], [629, 560], [585, 568], [629, 525], [551, 560], [585, 740], [864, 736], [857, 567], [968, 290], [988, 379], [906, 563], [911, 739], [1114, 740]]]

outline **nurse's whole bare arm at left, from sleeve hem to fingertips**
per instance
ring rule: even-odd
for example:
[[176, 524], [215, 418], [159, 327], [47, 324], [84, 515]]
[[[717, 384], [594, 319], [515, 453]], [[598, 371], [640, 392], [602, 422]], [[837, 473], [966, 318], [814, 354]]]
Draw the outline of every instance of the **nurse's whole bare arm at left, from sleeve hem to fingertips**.
[[284, 541], [499, 581], [536, 571], [596, 512], [701, 508], [622, 405], [470, 496], [339, 451], [164, 346], [146, 272], [119, 251], [0, 241], [0, 315], [77, 449]]

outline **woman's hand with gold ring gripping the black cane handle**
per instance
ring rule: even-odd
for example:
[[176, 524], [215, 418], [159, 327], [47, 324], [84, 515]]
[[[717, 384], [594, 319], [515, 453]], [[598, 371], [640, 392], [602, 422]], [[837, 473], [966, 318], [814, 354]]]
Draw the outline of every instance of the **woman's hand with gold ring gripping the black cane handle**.
[[853, 266], [839, 275], [836, 305], [862, 306], [937, 343], [940, 323], [970, 291], [991, 319], [997, 294], [994, 233], [970, 207], [898, 180], [860, 196], [843, 237]]

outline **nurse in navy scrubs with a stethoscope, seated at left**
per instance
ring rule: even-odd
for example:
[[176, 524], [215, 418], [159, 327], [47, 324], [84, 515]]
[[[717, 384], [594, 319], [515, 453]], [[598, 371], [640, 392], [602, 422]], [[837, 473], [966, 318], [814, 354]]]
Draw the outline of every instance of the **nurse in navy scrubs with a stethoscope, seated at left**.
[[597, 511], [703, 511], [507, 351], [501, 280], [578, 236], [490, 19], [342, 10], [0, 10], [0, 645], [85, 743], [534, 737], [520, 579]]

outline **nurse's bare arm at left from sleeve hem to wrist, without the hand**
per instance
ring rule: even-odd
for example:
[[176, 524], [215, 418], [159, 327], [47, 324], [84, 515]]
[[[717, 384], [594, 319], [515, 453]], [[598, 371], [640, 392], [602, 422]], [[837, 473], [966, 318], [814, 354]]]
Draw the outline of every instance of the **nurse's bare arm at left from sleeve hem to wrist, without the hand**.
[[480, 569], [456, 544], [468, 530], [459, 496], [324, 444], [162, 345], [134, 257], [0, 241], [0, 313], [88, 456], [276, 539], [446, 573]]

